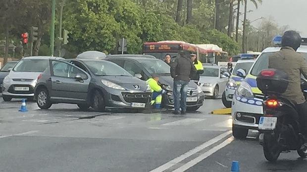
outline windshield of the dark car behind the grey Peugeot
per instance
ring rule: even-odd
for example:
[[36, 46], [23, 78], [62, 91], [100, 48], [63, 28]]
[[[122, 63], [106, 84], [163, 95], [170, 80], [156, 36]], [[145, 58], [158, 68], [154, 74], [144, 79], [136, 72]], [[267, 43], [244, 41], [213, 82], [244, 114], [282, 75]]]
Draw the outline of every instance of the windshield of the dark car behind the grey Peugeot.
[[170, 67], [161, 60], [138, 60], [142, 66], [150, 73], [170, 74]]

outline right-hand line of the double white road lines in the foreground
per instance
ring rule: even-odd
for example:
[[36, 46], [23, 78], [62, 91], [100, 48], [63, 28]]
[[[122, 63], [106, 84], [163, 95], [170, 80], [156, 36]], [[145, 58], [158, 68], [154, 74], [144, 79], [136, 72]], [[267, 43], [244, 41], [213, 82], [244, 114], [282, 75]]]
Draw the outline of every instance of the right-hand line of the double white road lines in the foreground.
[[233, 139], [234, 139], [233, 137], [230, 137], [230, 138], [226, 139], [221, 144], [219, 144], [219, 145], [213, 147], [212, 149], [206, 151], [205, 153], [203, 153], [199, 157], [189, 161], [188, 163], [186, 163], [185, 165], [179, 167], [178, 169], [174, 170], [173, 172], [185, 172], [186, 170], [188, 170], [191, 167], [195, 166], [197, 163], [203, 161], [208, 156], [212, 155], [214, 152], [218, 151], [219, 149], [225, 147], [227, 144], [231, 143], [233, 141]]

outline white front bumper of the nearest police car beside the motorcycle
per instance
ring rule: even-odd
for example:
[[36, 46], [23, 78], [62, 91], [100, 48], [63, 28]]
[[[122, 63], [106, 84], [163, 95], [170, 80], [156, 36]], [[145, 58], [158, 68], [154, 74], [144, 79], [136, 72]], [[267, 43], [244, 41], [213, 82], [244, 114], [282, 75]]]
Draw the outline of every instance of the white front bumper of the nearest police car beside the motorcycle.
[[234, 94], [232, 101], [231, 116], [233, 124], [257, 130], [259, 119], [263, 116], [262, 100], [242, 98]]

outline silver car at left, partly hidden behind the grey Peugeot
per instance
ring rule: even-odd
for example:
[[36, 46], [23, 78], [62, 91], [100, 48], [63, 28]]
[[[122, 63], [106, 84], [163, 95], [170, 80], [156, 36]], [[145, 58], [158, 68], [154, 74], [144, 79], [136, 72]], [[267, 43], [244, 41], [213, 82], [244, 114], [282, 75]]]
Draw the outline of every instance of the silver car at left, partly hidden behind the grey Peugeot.
[[33, 56], [18, 61], [3, 79], [2, 98], [5, 102], [12, 98], [33, 99], [37, 77], [48, 67], [49, 59], [60, 57]]

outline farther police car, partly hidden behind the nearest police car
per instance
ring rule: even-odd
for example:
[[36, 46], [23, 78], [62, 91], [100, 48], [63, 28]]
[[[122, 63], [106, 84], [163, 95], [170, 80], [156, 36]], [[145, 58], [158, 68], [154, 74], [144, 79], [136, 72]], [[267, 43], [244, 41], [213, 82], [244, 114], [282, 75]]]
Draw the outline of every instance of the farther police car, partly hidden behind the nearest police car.
[[239, 60], [237, 62], [222, 95], [222, 102], [225, 107], [231, 107], [232, 98], [237, 87], [240, 85], [244, 76], [246, 76], [246, 73], [251, 69], [255, 61], [256, 60]]

